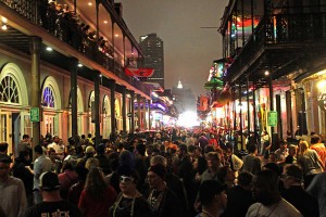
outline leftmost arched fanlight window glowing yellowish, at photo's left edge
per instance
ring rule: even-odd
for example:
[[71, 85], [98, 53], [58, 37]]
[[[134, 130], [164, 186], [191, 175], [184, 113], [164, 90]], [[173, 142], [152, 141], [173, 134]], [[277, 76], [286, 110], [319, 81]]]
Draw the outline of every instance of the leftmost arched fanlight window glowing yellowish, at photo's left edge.
[[15, 80], [5, 76], [0, 85], [0, 101], [8, 103], [20, 103], [18, 88]]

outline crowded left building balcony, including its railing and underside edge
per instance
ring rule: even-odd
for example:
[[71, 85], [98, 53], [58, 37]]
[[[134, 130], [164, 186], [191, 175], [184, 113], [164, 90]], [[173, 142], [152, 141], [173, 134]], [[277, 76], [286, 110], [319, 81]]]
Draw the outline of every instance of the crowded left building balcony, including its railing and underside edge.
[[[28, 25], [34, 25], [40, 29], [42, 35], [50, 35], [53, 37], [51, 41], [59, 41], [58, 49], [54, 52], [43, 52], [43, 48], [51, 46], [51, 41], [45, 41], [41, 48], [41, 60], [62, 67], [68, 71], [68, 58], [73, 55], [75, 58], [88, 59], [92, 61], [100, 68], [108, 71], [108, 78], [118, 78], [124, 80], [136, 89], [140, 90], [147, 95], [150, 95], [150, 89], [137, 78], [126, 76], [124, 67], [121, 61], [116, 59], [114, 48], [108, 43], [100, 36], [91, 38], [89, 34], [86, 34], [74, 17], [64, 17], [55, 13], [55, 9], [48, 8], [47, 5], [38, 5], [37, 0], [0, 0], [0, 14], [3, 15], [4, 11], [10, 8], [11, 12], [17, 13], [17, 16], [25, 18]], [[53, 11], [54, 10], [54, 11]], [[46, 17], [43, 15], [47, 15]], [[23, 24], [18, 24], [23, 25]], [[0, 42], [8, 48], [14, 48], [15, 50], [29, 54], [29, 36], [38, 35], [38, 33], [26, 34], [20, 29], [20, 26], [8, 25], [7, 31], [0, 33]], [[84, 26], [85, 28], [85, 26]], [[30, 30], [32, 31], [32, 30]], [[41, 37], [41, 36], [40, 36]], [[68, 52], [73, 50], [74, 52]], [[93, 63], [90, 65], [92, 68]], [[99, 68], [98, 67], [98, 68]], [[85, 74], [88, 78], [90, 75]]]

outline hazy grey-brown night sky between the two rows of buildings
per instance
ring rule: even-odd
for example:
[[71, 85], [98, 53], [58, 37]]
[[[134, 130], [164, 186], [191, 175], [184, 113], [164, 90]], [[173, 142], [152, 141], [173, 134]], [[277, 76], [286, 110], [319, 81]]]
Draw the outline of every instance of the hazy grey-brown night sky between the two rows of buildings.
[[165, 89], [190, 87], [204, 94], [213, 60], [222, 56], [220, 27], [228, 0], [115, 0], [131, 34], [156, 33], [164, 41]]

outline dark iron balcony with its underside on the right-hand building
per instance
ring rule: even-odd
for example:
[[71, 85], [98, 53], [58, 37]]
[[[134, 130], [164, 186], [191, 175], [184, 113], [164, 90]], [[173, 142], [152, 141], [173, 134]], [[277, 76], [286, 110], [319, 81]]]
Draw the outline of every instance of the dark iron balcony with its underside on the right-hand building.
[[249, 76], [264, 79], [272, 69], [277, 79], [316, 58], [325, 58], [326, 13], [274, 14], [264, 16], [227, 69], [231, 82]]

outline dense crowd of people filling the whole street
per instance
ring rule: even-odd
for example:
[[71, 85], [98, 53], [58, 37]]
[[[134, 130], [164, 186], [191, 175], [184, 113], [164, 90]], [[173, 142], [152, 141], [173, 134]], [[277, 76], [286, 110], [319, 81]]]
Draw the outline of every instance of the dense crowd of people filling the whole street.
[[278, 140], [264, 157], [250, 135], [240, 153], [239, 135], [168, 128], [98, 145], [47, 135], [36, 146], [24, 135], [14, 157], [0, 143], [0, 217], [326, 216], [321, 137]]

